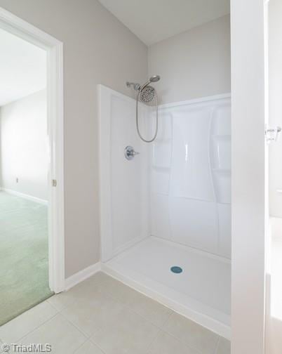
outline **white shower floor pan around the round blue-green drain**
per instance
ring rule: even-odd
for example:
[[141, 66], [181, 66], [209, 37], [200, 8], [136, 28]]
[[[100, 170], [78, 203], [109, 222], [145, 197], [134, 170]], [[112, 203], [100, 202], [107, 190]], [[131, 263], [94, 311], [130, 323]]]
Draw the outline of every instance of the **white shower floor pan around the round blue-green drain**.
[[[173, 273], [170, 268], [182, 268]], [[102, 270], [200, 325], [230, 339], [230, 261], [148, 237], [102, 263]]]

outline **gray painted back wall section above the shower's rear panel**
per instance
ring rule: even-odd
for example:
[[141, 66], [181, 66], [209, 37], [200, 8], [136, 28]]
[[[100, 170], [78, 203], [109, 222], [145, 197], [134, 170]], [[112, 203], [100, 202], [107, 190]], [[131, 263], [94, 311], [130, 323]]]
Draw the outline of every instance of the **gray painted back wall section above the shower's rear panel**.
[[229, 93], [230, 72], [229, 15], [149, 47], [161, 103]]

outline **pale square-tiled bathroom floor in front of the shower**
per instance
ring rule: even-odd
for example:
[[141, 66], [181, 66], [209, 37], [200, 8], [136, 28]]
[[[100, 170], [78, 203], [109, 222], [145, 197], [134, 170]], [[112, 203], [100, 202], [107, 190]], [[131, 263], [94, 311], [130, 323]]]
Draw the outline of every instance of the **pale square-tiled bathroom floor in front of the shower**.
[[0, 327], [0, 340], [50, 343], [56, 354], [230, 353], [229, 341], [104, 273]]

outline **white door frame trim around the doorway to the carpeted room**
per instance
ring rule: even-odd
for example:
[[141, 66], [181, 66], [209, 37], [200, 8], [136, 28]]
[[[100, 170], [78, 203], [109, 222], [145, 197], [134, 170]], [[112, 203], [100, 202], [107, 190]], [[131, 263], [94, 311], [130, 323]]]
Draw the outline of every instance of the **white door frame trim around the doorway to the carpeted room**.
[[49, 287], [58, 293], [65, 290], [63, 44], [4, 8], [0, 28], [47, 52]]

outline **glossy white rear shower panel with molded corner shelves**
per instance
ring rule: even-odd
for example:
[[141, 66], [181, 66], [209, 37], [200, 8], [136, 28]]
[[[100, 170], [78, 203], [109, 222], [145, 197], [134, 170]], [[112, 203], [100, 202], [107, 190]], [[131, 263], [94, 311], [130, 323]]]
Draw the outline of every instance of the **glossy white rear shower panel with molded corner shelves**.
[[150, 146], [151, 232], [231, 256], [230, 99], [163, 105]]

